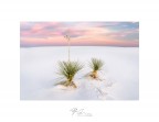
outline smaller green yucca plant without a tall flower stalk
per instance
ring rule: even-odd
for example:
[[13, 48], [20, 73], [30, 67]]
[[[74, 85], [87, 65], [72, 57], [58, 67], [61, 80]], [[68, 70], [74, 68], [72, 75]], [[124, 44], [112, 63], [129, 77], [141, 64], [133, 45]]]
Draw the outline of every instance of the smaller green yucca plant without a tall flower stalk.
[[102, 67], [104, 66], [104, 62], [97, 58], [92, 58], [92, 60], [89, 62], [89, 67], [93, 69], [93, 71], [91, 73], [91, 77], [96, 79], [98, 78], [98, 70], [102, 69]]

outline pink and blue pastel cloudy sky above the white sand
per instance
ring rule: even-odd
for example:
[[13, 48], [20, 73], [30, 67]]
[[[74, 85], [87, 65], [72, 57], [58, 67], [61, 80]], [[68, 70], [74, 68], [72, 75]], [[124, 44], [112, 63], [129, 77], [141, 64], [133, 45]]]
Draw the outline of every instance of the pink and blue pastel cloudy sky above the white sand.
[[139, 46], [138, 22], [21, 22], [21, 46], [66, 45]]

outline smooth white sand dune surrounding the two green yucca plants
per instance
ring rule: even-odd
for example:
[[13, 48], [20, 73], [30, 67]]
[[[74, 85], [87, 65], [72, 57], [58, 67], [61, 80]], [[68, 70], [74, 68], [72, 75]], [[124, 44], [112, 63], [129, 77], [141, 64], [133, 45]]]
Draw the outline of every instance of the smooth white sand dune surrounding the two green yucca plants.
[[[106, 46], [72, 46], [71, 60], [85, 67], [75, 76], [77, 89], [54, 86], [61, 81], [57, 62], [67, 60], [66, 46], [21, 47], [21, 100], [138, 100], [139, 48]], [[105, 62], [102, 81], [85, 77], [92, 57]]]

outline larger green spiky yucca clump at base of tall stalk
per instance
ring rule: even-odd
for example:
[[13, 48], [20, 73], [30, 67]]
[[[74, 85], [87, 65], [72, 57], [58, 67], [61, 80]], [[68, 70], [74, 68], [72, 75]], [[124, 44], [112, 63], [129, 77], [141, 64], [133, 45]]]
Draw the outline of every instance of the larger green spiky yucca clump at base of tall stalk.
[[78, 62], [59, 62], [59, 75], [65, 79], [65, 81], [60, 82], [60, 85], [76, 88], [73, 79], [75, 75], [83, 68], [83, 65]]

